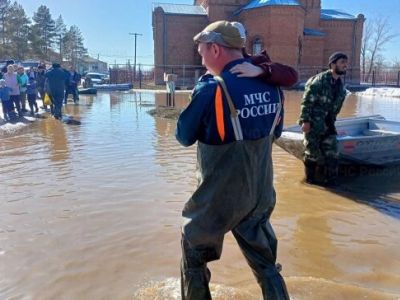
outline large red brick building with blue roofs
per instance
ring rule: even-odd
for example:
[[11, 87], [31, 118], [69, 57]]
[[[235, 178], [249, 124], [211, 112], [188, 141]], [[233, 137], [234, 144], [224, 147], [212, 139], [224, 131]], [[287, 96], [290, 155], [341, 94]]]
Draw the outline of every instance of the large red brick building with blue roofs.
[[346, 80], [360, 80], [361, 14], [322, 9], [321, 0], [194, 0], [193, 5], [154, 4], [156, 83], [163, 82], [164, 71], [198, 76], [190, 67], [201, 64], [193, 36], [217, 20], [243, 23], [248, 52], [267, 49], [273, 61], [296, 67], [301, 80], [325, 69], [329, 55], [339, 50], [349, 57]]

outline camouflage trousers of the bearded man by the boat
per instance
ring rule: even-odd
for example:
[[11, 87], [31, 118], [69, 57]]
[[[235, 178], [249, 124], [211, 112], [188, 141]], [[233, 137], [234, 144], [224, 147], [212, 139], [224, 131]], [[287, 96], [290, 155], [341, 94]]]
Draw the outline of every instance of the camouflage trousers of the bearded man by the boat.
[[324, 165], [330, 160], [338, 159], [338, 146], [335, 134], [310, 131], [304, 134], [304, 160]]

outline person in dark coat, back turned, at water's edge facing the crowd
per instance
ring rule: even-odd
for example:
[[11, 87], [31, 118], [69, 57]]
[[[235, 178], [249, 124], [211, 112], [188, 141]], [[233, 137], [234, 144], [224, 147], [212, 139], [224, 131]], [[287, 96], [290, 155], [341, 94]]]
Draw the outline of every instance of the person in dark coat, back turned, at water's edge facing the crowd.
[[53, 63], [52, 68], [45, 74], [47, 82], [47, 92], [53, 102], [54, 118], [60, 120], [62, 117], [62, 103], [65, 95], [65, 86], [68, 82], [68, 74], [61, 68], [59, 63]]

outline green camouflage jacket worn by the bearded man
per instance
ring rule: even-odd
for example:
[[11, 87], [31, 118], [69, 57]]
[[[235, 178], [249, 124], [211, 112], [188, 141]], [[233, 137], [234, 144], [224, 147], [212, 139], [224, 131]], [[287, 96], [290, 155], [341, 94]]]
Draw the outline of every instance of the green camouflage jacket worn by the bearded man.
[[336, 132], [334, 124], [346, 97], [346, 90], [340, 78], [334, 82], [330, 70], [307, 81], [301, 102], [299, 124], [310, 122], [312, 130]]

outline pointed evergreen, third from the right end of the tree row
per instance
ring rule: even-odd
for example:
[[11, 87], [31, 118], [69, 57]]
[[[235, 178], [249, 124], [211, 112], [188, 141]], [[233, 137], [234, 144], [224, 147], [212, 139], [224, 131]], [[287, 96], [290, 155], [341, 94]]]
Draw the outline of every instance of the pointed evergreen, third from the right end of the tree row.
[[46, 58], [48, 57], [48, 50], [54, 44], [55, 38], [55, 22], [51, 17], [50, 10], [45, 6], [41, 5], [37, 12], [33, 15], [33, 21], [35, 21], [34, 30], [39, 34], [41, 48]]

